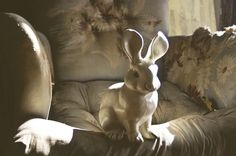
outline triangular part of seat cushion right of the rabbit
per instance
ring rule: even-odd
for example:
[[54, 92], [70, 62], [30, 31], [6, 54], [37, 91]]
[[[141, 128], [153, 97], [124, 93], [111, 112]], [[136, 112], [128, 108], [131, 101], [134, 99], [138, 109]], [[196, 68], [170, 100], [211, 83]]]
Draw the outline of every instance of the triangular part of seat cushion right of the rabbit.
[[159, 101], [153, 115], [153, 123], [165, 123], [185, 115], [206, 114], [208, 108], [202, 103], [196, 103], [175, 84], [162, 82], [158, 90]]

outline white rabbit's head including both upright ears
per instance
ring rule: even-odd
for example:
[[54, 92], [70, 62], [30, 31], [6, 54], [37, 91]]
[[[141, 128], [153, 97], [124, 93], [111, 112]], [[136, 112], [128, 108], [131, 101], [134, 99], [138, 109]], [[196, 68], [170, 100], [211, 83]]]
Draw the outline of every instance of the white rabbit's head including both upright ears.
[[156, 60], [161, 58], [169, 48], [167, 38], [162, 32], [158, 32], [152, 39], [146, 56], [142, 57], [144, 45], [143, 37], [133, 29], [125, 30], [123, 34], [123, 47], [130, 61], [130, 69], [125, 75], [125, 85], [140, 93], [149, 93], [160, 87], [157, 77], [158, 66]]

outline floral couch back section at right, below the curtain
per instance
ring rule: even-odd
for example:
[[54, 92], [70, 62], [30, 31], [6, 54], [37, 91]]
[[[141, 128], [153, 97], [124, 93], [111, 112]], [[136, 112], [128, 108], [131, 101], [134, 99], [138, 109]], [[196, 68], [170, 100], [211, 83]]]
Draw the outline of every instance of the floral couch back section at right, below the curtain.
[[165, 75], [198, 102], [224, 108], [236, 106], [236, 27], [190, 36], [170, 37], [164, 57]]

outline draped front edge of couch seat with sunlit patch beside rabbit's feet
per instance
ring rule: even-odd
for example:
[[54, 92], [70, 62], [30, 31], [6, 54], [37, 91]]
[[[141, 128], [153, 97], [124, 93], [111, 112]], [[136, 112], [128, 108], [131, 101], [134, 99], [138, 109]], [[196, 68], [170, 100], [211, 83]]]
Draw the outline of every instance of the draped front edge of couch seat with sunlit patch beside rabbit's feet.
[[62, 156], [234, 156], [235, 120], [236, 108], [218, 110], [205, 116], [188, 115], [153, 125], [151, 130], [157, 138], [143, 143], [131, 143], [127, 138], [113, 141], [100, 133], [75, 130], [69, 146], [52, 151], [60, 152], [58, 155]]

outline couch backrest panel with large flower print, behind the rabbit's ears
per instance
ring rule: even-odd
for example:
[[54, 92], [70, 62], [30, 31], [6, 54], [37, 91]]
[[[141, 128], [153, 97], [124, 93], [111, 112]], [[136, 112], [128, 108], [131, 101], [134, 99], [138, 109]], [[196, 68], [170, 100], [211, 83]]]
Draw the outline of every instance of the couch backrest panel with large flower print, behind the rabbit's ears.
[[167, 32], [166, 0], [59, 0], [48, 12], [56, 81], [122, 80], [128, 61], [122, 31], [138, 30], [148, 45]]

